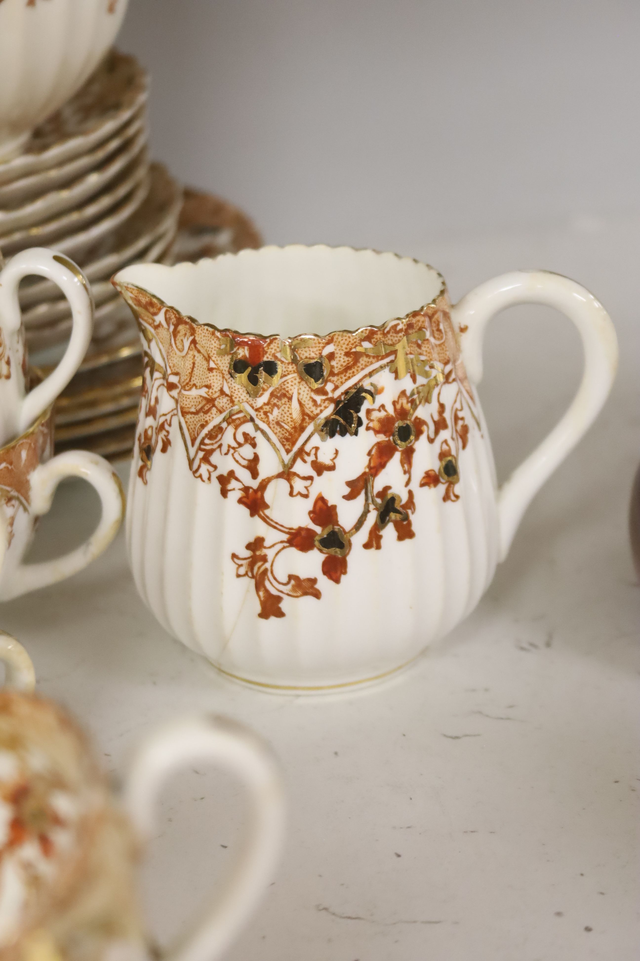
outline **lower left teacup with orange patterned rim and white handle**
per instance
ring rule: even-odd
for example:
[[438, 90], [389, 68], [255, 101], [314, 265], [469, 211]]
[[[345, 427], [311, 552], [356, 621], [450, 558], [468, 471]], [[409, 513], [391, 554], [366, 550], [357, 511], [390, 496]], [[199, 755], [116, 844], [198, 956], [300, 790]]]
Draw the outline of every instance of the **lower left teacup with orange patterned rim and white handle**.
[[[50, 408], [29, 431], [0, 448], [0, 601], [83, 570], [107, 549], [125, 514], [122, 484], [107, 460], [88, 451], [52, 457], [53, 431]], [[24, 563], [37, 518], [51, 507], [60, 480], [69, 477], [87, 480], [96, 489], [102, 505], [96, 530], [68, 554]]]

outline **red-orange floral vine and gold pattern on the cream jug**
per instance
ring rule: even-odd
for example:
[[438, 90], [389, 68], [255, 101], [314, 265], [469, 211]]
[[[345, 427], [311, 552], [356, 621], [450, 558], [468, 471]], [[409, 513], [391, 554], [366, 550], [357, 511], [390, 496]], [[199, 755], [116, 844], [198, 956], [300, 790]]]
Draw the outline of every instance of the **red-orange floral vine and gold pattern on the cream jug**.
[[[285, 551], [320, 553], [322, 576], [338, 584], [347, 574], [354, 537], [366, 525], [366, 551], [381, 550], [389, 528], [398, 541], [415, 537], [417, 442], [436, 445], [439, 459], [439, 470], [427, 470], [418, 486], [439, 488], [444, 502], [460, 499], [467, 414], [477, 425], [478, 420], [445, 296], [382, 328], [284, 341], [218, 331], [147, 291], [130, 284], [120, 289], [147, 343], [154, 343], [165, 361], [145, 352], [138, 477], [147, 483], [154, 456], [169, 450], [178, 421], [194, 477], [204, 483], [215, 479], [223, 498], [236, 498], [275, 535], [269, 541], [256, 536], [244, 552], [231, 554], [236, 577], [254, 581], [258, 617], [284, 617], [285, 598], [321, 597], [318, 577], [277, 576], [274, 564]], [[391, 403], [379, 402], [375, 381], [369, 380], [384, 369], [396, 381], [407, 380]], [[291, 527], [274, 517], [273, 481], [285, 481], [292, 498], [310, 498], [314, 481], [337, 467], [340, 449], [329, 456], [323, 442], [340, 435], [348, 443], [348, 435], [360, 429], [370, 431], [372, 443], [363, 470], [345, 481], [343, 495], [344, 501], [362, 500], [356, 523], [341, 524], [338, 505], [322, 493], [308, 510], [309, 524]], [[280, 461], [281, 469], [265, 477], [258, 433]], [[396, 457], [405, 479], [401, 494], [383, 479]], [[233, 466], [224, 471], [219, 463], [226, 461], [228, 468], [228, 458]]]

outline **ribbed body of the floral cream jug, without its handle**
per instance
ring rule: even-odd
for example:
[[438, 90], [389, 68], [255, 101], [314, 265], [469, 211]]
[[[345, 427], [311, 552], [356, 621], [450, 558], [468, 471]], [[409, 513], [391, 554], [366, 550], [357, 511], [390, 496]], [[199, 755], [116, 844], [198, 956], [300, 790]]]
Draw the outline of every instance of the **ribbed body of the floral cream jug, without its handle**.
[[[236, 276], [233, 261], [239, 259], [242, 255], [201, 261], [196, 267], [152, 265], [151, 270], [138, 265], [121, 271], [115, 280], [140, 320], [146, 351], [147, 396], [143, 397], [138, 422], [127, 520], [135, 583], [164, 628], [236, 678], [314, 689], [384, 676], [415, 658], [473, 609], [498, 559], [491, 450], [478, 399], [466, 381], [462, 361], [458, 355], [449, 357], [458, 347], [446, 291], [432, 268], [368, 251], [265, 248], [247, 252], [243, 272]], [[282, 260], [286, 263], [278, 275]], [[307, 278], [306, 296], [302, 290], [290, 296], [296, 278], [306, 271], [315, 272], [318, 282]], [[372, 286], [378, 289], [372, 292]], [[327, 293], [331, 290], [333, 293]], [[153, 296], [149, 297], [147, 291]], [[320, 299], [324, 303], [319, 306]], [[335, 310], [331, 309], [332, 302]], [[429, 307], [419, 313], [425, 303]], [[393, 309], [393, 305], [397, 307]], [[416, 312], [412, 313], [412, 308]], [[278, 311], [281, 324], [276, 327]], [[404, 314], [409, 314], [410, 320], [404, 318], [391, 326], [385, 323]], [[330, 333], [336, 316], [341, 325], [349, 317], [355, 320], [353, 327], [345, 328], [352, 332], [352, 340], [345, 341], [351, 355], [348, 351], [341, 355], [342, 342]], [[378, 332], [367, 328], [367, 333], [362, 333], [358, 328], [365, 325], [367, 317], [382, 328]], [[207, 323], [215, 324], [215, 328], [207, 329]], [[237, 327], [257, 331], [253, 336], [262, 339], [264, 357], [279, 358], [274, 362], [282, 368], [280, 380], [263, 383], [261, 392], [252, 399], [243, 383], [231, 380], [230, 388], [226, 383], [219, 387], [236, 362], [234, 357], [249, 357], [254, 362], [263, 356], [256, 353], [252, 335], [236, 333]], [[266, 335], [274, 330], [276, 335], [270, 340]], [[320, 333], [304, 340], [294, 336], [297, 330]], [[427, 335], [422, 337], [419, 332], [424, 331]], [[225, 337], [232, 338], [233, 344], [226, 343]], [[382, 346], [376, 351], [379, 341]], [[360, 346], [353, 348], [355, 342]], [[405, 367], [392, 370], [403, 343]], [[277, 417], [284, 419], [284, 404], [289, 397], [284, 385], [297, 376], [296, 367], [285, 362], [292, 344], [294, 353], [298, 352], [294, 362], [299, 364], [299, 355], [306, 351], [305, 356], [311, 360], [327, 357], [330, 367], [323, 388], [328, 396], [318, 400], [320, 415], [311, 418], [306, 432], [294, 443], [293, 454], [287, 439], [290, 435], [282, 446], [278, 437], [281, 440], [285, 435], [277, 433]], [[363, 361], [367, 366], [340, 387], [332, 381], [335, 370], [347, 362], [344, 358], [348, 356], [360, 362], [363, 345], [369, 352]], [[445, 356], [446, 362], [439, 361], [438, 357]], [[197, 365], [202, 357], [206, 363], [201, 364], [204, 373], [199, 381]], [[266, 365], [264, 359], [261, 362]], [[206, 380], [211, 370], [218, 378], [215, 389], [213, 382]], [[409, 417], [403, 416], [412, 391], [434, 377], [430, 402], [425, 399]], [[158, 384], [155, 393], [150, 387], [153, 382]], [[359, 411], [362, 424], [357, 432], [344, 431], [343, 436], [337, 431], [328, 436], [327, 417], [336, 410], [340, 412], [348, 390], [363, 384], [369, 394]], [[305, 402], [307, 395], [301, 387], [299, 382], [287, 388], [297, 399], [290, 397], [289, 402], [302, 407], [307, 403], [313, 413], [319, 392], [312, 390]], [[227, 398], [229, 389], [231, 396]], [[284, 397], [277, 402], [280, 407], [273, 402], [278, 389]], [[189, 420], [194, 397], [218, 405], [200, 435]], [[157, 404], [150, 410], [153, 398]], [[220, 412], [225, 404], [226, 411]], [[268, 421], [265, 411], [269, 404], [272, 420]], [[453, 423], [456, 404], [465, 425], [459, 423], [458, 432]], [[374, 413], [382, 405], [391, 419], [384, 420], [384, 412]], [[197, 441], [194, 443], [193, 437], [206, 437], [211, 425], [223, 430], [232, 420], [228, 410], [238, 409], [249, 412], [236, 434], [242, 440], [246, 431], [250, 437], [242, 456], [259, 458], [255, 477], [250, 478], [239, 465], [240, 455], [234, 458], [224, 448], [214, 453], [202, 470], [198, 466], [200, 455], [194, 454]], [[440, 423], [438, 431], [436, 422], [441, 421], [442, 413], [446, 427]], [[168, 427], [164, 440], [159, 441], [154, 431], [163, 418]], [[416, 418], [424, 425], [421, 429]], [[393, 441], [393, 437], [397, 440], [405, 436], [397, 434], [394, 425], [398, 421], [402, 423], [397, 430], [404, 425], [410, 434], [409, 421], [421, 430], [406, 447]], [[232, 433], [232, 426], [227, 426], [224, 436], [230, 438]], [[378, 473], [377, 467], [371, 466], [371, 451], [376, 444], [382, 445], [376, 448], [382, 459], [389, 458]], [[443, 444], [455, 454], [451, 483], [440, 470]], [[404, 462], [401, 459], [407, 447], [413, 450], [410, 475], [406, 462], [409, 455]], [[314, 448], [318, 448], [314, 454], [316, 468], [308, 455]], [[301, 449], [307, 452], [303, 457], [299, 455]], [[290, 480], [292, 472], [299, 480], [293, 481], [292, 488], [290, 480], [277, 477], [265, 488], [269, 516], [280, 526], [280, 530], [274, 530], [260, 516], [250, 516], [247, 505], [241, 503], [241, 488], [255, 490], [261, 479], [282, 474], [282, 456], [293, 457]], [[334, 469], [327, 470], [320, 464], [334, 464]], [[315, 505], [322, 505], [318, 501], [321, 498], [327, 505], [336, 506], [341, 530], [353, 530], [367, 495], [345, 500], [351, 489], [347, 481], [367, 474], [368, 468], [375, 475], [370, 490], [378, 506], [369, 506], [364, 525], [351, 534], [343, 569], [342, 559], [335, 554], [322, 553], [313, 544], [309, 549], [310, 538], [313, 533], [321, 536], [326, 520], [326, 511], [317, 511], [315, 520], [310, 519], [310, 512]], [[238, 479], [237, 486], [235, 480], [226, 483], [230, 472]], [[226, 497], [225, 484], [229, 488]], [[386, 493], [383, 488], [388, 488]], [[392, 523], [378, 523], [380, 505], [390, 491], [398, 495], [398, 503], [405, 505], [410, 494], [413, 496], [414, 504], [397, 515], [409, 519], [411, 530], [407, 520], [401, 519], [397, 530]], [[369, 537], [376, 524], [381, 541], [377, 549], [373, 546], [375, 538]], [[304, 529], [312, 530], [299, 535], [299, 543], [307, 550], [296, 550], [286, 543], [282, 546], [292, 530]], [[249, 558], [261, 553], [262, 549], [256, 547], [257, 538], [264, 538], [263, 553], [272, 578], [267, 584], [269, 593], [277, 598], [273, 603], [267, 597], [261, 604], [258, 596], [260, 564], [254, 565], [252, 578], [243, 574]], [[365, 547], [367, 538], [371, 543]], [[323, 573], [327, 557], [331, 576]], [[287, 595], [286, 585], [292, 576], [316, 579], [314, 589], [321, 596]], [[278, 588], [278, 584], [285, 586]], [[278, 589], [282, 591], [279, 594]]]

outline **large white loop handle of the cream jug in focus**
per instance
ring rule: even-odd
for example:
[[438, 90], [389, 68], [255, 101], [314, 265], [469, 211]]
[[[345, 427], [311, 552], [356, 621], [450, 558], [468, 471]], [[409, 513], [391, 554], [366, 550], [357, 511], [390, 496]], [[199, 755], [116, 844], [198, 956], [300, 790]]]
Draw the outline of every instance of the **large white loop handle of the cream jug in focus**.
[[482, 349], [487, 321], [514, 304], [532, 303], [555, 307], [574, 322], [584, 348], [584, 373], [571, 407], [498, 492], [501, 560], [509, 552], [513, 535], [533, 495], [598, 416], [618, 363], [613, 324], [593, 294], [580, 283], [559, 274], [545, 270], [514, 271], [482, 283], [453, 308], [461, 332], [462, 360], [471, 382], [479, 383], [483, 376]]

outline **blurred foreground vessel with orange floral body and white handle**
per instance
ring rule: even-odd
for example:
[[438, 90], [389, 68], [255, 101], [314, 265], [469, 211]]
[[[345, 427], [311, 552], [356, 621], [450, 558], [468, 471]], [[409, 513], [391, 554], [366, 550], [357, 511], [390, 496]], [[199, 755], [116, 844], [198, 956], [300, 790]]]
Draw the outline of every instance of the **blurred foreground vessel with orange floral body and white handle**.
[[[160, 956], [216, 961], [272, 880], [284, 834], [279, 766], [268, 746], [226, 718], [160, 727], [133, 757], [119, 803], [83, 733], [53, 702], [0, 692], [0, 812], [12, 843], [0, 862], [0, 950], [18, 957], [143, 961], [158, 957], [134, 869], [154, 834], [167, 782], [195, 765], [237, 776], [249, 796], [244, 846], [199, 924]], [[207, 837], [202, 837], [206, 850]], [[196, 899], [200, 900], [197, 896]]]

